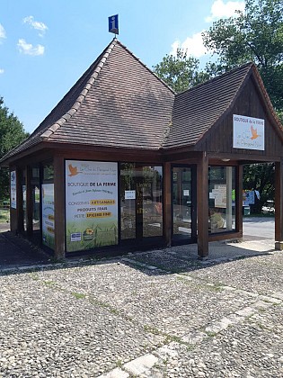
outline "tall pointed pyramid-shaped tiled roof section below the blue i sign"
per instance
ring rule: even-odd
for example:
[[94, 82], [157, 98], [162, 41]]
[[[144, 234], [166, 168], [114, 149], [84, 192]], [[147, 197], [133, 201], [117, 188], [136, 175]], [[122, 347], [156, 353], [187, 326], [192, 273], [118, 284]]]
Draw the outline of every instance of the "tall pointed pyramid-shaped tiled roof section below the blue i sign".
[[50, 143], [115, 148], [161, 148], [174, 93], [114, 39], [20, 146]]

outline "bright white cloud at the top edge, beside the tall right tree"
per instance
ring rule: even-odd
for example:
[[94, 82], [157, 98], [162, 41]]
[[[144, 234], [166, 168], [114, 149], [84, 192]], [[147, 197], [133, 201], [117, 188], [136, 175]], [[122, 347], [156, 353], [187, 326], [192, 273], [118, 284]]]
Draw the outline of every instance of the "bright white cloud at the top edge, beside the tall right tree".
[[216, 0], [211, 6], [210, 15], [206, 17], [206, 22], [212, 23], [220, 18], [236, 16], [236, 10], [244, 11], [244, 1], [228, 1], [225, 4], [223, 0]]

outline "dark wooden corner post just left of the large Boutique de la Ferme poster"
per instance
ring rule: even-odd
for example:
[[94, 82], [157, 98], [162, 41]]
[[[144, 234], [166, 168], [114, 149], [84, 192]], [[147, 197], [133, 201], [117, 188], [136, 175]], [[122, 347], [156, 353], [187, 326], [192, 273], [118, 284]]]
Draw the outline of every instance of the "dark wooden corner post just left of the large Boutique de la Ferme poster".
[[54, 255], [60, 260], [65, 257], [65, 166], [64, 158], [54, 157], [54, 218], [55, 248]]

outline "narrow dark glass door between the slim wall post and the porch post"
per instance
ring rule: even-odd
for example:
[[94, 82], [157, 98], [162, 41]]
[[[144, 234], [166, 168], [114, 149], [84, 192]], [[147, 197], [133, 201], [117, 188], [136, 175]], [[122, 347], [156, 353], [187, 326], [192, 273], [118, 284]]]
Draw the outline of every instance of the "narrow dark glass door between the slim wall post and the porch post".
[[189, 243], [197, 238], [196, 169], [172, 166], [172, 241]]

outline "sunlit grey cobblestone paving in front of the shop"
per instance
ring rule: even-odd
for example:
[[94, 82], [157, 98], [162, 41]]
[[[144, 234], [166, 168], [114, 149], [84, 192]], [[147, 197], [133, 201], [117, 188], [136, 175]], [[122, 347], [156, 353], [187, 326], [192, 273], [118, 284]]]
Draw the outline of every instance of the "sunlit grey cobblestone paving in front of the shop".
[[250, 255], [3, 271], [0, 377], [282, 377], [283, 253]]

